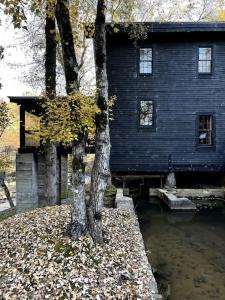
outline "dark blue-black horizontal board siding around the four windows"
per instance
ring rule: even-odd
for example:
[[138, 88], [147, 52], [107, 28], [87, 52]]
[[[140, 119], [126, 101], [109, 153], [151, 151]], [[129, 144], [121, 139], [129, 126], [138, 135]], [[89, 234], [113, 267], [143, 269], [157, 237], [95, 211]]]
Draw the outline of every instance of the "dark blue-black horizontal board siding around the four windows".
[[[166, 172], [225, 170], [225, 41], [151, 41], [153, 74], [139, 76], [138, 48], [108, 43], [109, 93], [116, 95], [111, 130], [111, 170]], [[197, 72], [198, 47], [213, 47], [212, 75]], [[155, 130], [138, 126], [138, 101], [153, 99]], [[215, 116], [214, 147], [198, 148], [197, 113]]]

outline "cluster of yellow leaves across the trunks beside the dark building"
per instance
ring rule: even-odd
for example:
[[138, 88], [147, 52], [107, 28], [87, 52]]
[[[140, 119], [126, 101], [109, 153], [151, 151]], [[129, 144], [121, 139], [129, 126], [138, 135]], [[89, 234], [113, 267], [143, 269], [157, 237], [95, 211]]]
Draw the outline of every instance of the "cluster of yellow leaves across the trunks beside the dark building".
[[93, 134], [95, 114], [99, 109], [94, 97], [79, 92], [55, 99], [41, 98], [44, 114], [41, 116], [41, 139], [71, 144], [81, 133]]

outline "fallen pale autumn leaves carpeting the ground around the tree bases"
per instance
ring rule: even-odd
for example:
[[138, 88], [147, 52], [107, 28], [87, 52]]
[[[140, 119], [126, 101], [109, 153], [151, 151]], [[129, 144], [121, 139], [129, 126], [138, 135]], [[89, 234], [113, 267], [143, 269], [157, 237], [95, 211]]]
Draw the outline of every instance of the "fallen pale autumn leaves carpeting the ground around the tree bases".
[[0, 299], [152, 299], [136, 216], [103, 210], [104, 242], [72, 241], [70, 207], [0, 223]]

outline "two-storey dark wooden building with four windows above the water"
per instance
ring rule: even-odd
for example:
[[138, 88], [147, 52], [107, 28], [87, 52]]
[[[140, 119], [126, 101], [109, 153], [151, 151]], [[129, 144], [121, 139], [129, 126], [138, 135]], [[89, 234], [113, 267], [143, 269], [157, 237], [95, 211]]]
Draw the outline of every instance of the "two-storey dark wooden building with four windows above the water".
[[112, 172], [224, 171], [225, 23], [144, 26], [107, 35]]

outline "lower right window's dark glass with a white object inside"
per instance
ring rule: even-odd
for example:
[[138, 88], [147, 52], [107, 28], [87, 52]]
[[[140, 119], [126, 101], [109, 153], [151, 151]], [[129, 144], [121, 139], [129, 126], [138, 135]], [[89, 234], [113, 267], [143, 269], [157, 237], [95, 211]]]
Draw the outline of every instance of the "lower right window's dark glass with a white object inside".
[[212, 116], [199, 116], [199, 144], [212, 145]]

